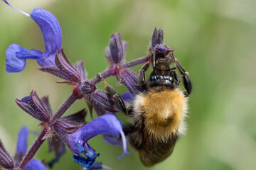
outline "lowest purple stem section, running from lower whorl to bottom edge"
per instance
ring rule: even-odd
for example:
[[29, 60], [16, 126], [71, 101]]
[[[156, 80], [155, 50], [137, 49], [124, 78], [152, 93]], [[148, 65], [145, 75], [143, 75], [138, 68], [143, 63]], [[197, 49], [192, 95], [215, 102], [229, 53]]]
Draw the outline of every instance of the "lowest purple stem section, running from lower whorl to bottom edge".
[[38, 136], [36, 141], [33, 143], [32, 147], [26, 153], [26, 156], [24, 157], [24, 159], [22, 160], [21, 165], [20, 165], [21, 169], [25, 168], [26, 164], [28, 164], [28, 162], [30, 162], [30, 160], [33, 158], [33, 156], [38, 151], [39, 147], [41, 147], [41, 145], [45, 141], [45, 139], [42, 140], [44, 135], [46, 135], [46, 128], [43, 128], [43, 130], [41, 131], [40, 135]]

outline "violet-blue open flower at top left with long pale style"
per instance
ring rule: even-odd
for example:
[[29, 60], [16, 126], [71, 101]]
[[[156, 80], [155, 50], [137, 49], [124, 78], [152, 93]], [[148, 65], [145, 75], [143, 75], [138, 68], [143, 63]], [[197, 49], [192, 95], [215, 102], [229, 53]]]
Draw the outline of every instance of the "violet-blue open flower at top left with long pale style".
[[[4, 2], [9, 4], [7, 1]], [[61, 50], [62, 31], [55, 16], [41, 8], [34, 8], [30, 15], [26, 15], [30, 16], [41, 28], [46, 50], [41, 52], [34, 49], [27, 50], [21, 45], [9, 45], [6, 50], [6, 72], [21, 72], [26, 66], [27, 59], [37, 60], [41, 67], [54, 67], [56, 52]]]

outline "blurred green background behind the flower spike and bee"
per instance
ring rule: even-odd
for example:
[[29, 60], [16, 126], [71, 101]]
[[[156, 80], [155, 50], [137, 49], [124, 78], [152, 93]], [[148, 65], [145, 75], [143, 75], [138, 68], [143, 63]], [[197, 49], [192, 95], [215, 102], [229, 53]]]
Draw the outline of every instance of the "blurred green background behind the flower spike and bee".
[[[155, 27], [164, 28], [164, 42], [189, 72], [193, 94], [189, 101], [187, 135], [174, 153], [146, 168], [132, 155], [117, 160], [122, 147], [95, 137], [90, 145], [100, 152], [97, 161], [113, 169], [255, 169], [256, 167], [256, 1], [253, 0], [76, 0], [9, 1], [30, 13], [46, 8], [63, 29], [63, 50], [71, 62], [85, 61], [89, 78], [108, 67], [103, 55], [110, 35], [122, 33], [129, 42], [126, 60], [146, 55]], [[15, 98], [36, 90], [49, 95], [53, 111], [73, 88], [56, 84], [58, 78], [38, 71], [35, 61], [16, 74], [5, 72], [5, 50], [11, 43], [44, 50], [41, 31], [30, 18], [0, 3], [0, 138], [14, 154], [18, 130], [27, 125], [39, 131], [38, 120], [23, 112]], [[139, 67], [132, 68], [138, 72]], [[116, 79], [107, 81], [114, 85]], [[102, 85], [99, 84], [99, 88]], [[125, 91], [123, 86], [117, 91]], [[67, 114], [80, 111], [76, 101]], [[90, 120], [89, 116], [87, 120]], [[30, 136], [30, 145], [35, 139]], [[36, 158], [50, 160], [46, 143]], [[80, 169], [67, 154], [53, 169]]]

